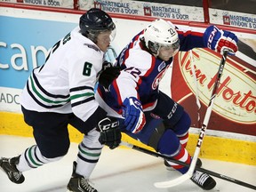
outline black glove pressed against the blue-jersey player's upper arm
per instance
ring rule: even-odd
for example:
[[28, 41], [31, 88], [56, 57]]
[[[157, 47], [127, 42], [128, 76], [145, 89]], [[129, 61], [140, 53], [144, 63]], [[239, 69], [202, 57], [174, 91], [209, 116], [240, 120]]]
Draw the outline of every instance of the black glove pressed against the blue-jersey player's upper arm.
[[113, 67], [108, 61], [103, 63], [102, 72], [99, 77], [99, 84], [108, 89], [108, 86], [120, 75], [120, 68]]

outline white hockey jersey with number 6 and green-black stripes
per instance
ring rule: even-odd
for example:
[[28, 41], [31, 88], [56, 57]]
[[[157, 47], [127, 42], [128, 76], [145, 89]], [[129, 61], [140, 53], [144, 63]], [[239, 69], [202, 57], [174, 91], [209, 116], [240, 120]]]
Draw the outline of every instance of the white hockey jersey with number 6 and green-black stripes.
[[86, 121], [99, 107], [94, 85], [103, 57], [104, 52], [75, 28], [54, 44], [44, 65], [33, 70], [20, 104], [38, 112], [73, 112]]

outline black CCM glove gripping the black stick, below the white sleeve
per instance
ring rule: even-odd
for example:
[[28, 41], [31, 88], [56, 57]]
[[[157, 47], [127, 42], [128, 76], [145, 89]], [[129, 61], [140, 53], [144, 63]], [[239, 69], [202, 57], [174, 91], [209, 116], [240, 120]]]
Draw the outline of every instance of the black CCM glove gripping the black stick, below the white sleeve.
[[106, 117], [98, 123], [98, 129], [100, 130], [99, 141], [101, 144], [107, 145], [110, 149], [114, 149], [119, 146], [121, 142], [121, 131], [119, 128], [119, 122], [115, 117]]

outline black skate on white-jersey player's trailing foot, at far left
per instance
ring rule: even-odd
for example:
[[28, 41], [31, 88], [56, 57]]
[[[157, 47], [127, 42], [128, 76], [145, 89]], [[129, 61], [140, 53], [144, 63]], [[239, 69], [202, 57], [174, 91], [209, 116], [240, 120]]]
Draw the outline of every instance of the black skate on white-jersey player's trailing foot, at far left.
[[2, 170], [7, 174], [8, 178], [12, 180], [12, 182], [17, 184], [20, 184], [25, 180], [22, 172], [20, 172], [16, 167], [16, 164], [19, 164], [19, 161], [20, 156], [13, 158], [2, 157], [0, 159], [0, 167]]

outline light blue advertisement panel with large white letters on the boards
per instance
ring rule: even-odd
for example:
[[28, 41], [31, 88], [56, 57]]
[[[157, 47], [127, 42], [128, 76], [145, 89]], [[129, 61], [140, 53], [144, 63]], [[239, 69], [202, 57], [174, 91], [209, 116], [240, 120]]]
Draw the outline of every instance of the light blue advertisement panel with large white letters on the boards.
[[77, 24], [0, 16], [0, 25], [0, 87], [22, 89], [52, 45]]

